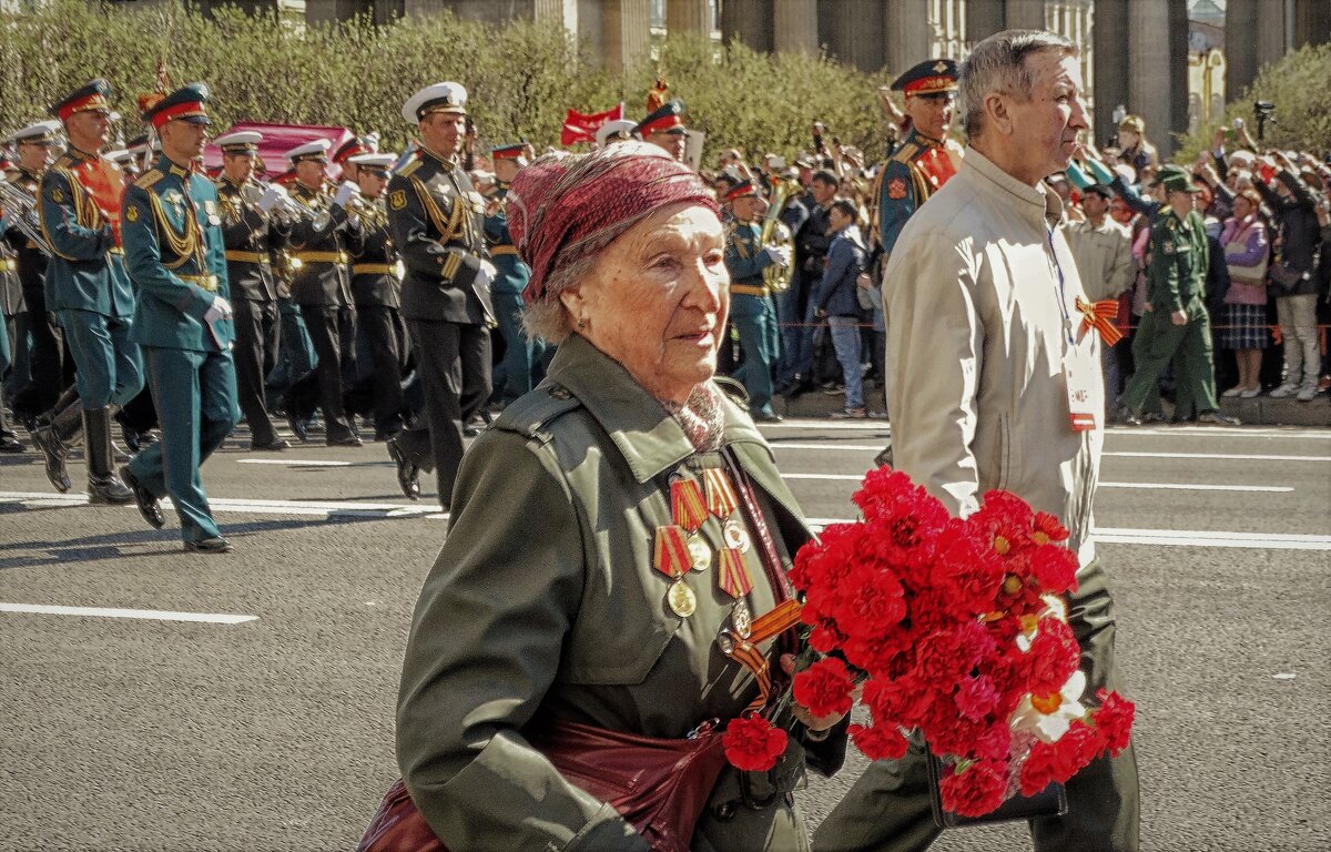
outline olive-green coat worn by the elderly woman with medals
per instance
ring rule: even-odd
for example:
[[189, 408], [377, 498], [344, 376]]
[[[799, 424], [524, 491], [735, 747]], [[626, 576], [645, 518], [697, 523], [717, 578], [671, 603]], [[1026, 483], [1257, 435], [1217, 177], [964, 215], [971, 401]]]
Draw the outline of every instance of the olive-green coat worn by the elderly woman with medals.
[[[752, 421], [729, 401], [724, 415], [724, 443], [788, 560], [809, 535], [803, 515]], [[696, 477], [717, 462], [576, 334], [548, 377], [467, 451], [449, 538], [417, 604], [397, 724], [407, 789], [450, 848], [646, 851], [523, 730], [559, 718], [683, 738], [704, 719], [733, 718], [756, 695], [747, 671], [716, 647], [729, 598], [716, 588], [715, 566], [689, 574], [697, 611], [687, 619], [667, 608], [669, 579], [652, 566], [654, 531], [672, 523], [671, 474]], [[713, 523], [700, 531], [715, 543]], [[756, 542], [744, 555], [755, 616], [775, 600]], [[788, 752], [800, 765], [803, 731], [796, 726]], [[824, 769], [840, 763], [843, 731], [809, 746]], [[737, 775], [727, 769], [713, 803], [735, 795]], [[704, 811], [693, 848], [804, 848], [803, 827], [776, 811], [741, 804], [729, 821]]]

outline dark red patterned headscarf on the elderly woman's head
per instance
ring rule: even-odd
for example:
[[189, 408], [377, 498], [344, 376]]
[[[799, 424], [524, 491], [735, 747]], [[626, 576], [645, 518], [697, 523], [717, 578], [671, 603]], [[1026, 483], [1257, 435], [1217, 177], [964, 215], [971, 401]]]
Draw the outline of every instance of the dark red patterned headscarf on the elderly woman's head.
[[717, 216], [716, 198], [687, 165], [656, 145], [619, 142], [579, 156], [547, 154], [508, 188], [508, 233], [531, 268], [526, 304], [547, 292], [551, 273], [599, 254], [656, 210], [697, 204]]

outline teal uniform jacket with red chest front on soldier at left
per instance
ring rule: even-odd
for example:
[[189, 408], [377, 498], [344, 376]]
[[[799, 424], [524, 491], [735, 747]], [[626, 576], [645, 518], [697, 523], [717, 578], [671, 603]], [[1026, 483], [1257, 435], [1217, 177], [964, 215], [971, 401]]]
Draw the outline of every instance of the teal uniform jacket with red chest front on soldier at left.
[[[93, 177], [101, 182], [91, 190]], [[134, 293], [105, 212], [114, 204], [118, 213], [122, 180], [114, 162], [73, 148], [43, 174], [37, 210], [55, 253], [47, 265], [47, 310], [89, 310], [126, 320], [134, 313]]]

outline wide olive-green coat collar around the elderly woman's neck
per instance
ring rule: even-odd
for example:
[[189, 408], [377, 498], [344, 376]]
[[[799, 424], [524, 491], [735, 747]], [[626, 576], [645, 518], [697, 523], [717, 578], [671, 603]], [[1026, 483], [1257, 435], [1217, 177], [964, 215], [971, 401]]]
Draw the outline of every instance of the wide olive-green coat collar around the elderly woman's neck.
[[[660, 475], [696, 453], [666, 406], [647, 393], [622, 363], [580, 334], [571, 334], [559, 345], [548, 377], [568, 389], [600, 423], [639, 482]], [[723, 443], [757, 443], [765, 449], [767, 442], [748, 414], [724, 393], [721, 399], [725, 423]]]

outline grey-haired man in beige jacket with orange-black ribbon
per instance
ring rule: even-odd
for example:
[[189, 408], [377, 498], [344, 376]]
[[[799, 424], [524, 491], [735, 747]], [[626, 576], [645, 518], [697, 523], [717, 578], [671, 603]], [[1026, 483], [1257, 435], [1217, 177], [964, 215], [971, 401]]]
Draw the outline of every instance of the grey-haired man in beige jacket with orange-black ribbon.
[[[1099, 341], [1082, 323], [1077, 265], [1044, 178], [1087, 128], [1075, 47], [1008, 31], [961, 69], [970, 148], [961, 172], [906, 222], [884, 274], [886, 390], [894, 465], [950, 510], [1008, 489], [1055, 514], [1082, 570], [1069, 620], [1086, 698], [1119, 687], [1114, 603], [1091, 540], [1103, 386]], [[1032, 820], [1040, 851], [1135, 851], [1131, 747], [1067, 784], [1063, 817]], [[924, 753], [878, 761], [820, 825], [816, 852], [924, 849], [937, 837]]]

